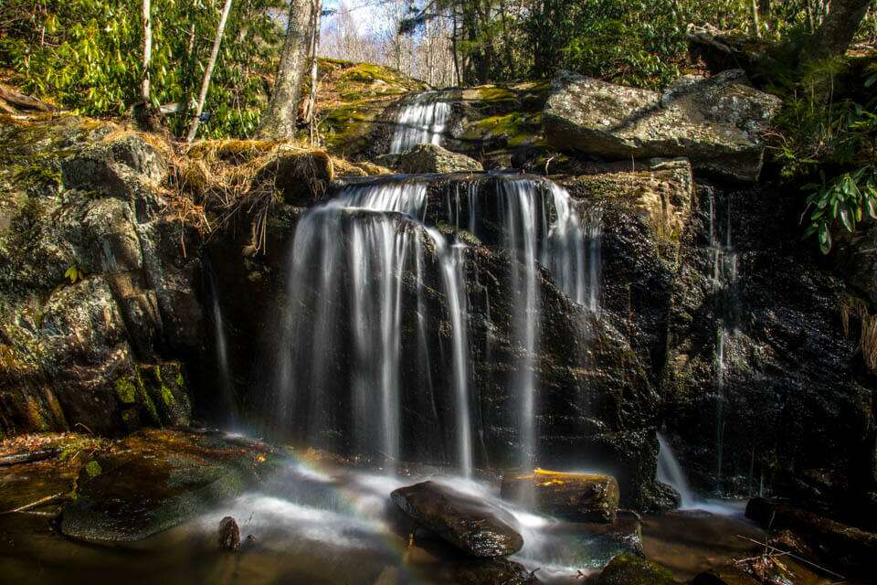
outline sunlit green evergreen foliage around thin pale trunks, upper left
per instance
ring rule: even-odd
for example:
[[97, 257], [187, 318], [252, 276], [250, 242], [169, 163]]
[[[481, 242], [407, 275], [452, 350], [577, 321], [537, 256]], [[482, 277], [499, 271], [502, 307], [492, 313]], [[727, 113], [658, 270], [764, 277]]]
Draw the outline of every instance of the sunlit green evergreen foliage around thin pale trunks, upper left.
[[[234, 5], [214, 73], [204, 136], [255, 131], [266, 78], [276, 66], [282, 30], [271, 10], [282, 0]], [[217, 0], [154, 0], [153, 107], [197, 97], [216, 33]], [[121, 115], [140, 100], [143, 30], [139, 2], [128, 0], [5, 0], [0, 3], [0, 61], [24, 90], [90, 116]], [[185, 115], [170, 116], [185, 132]]]

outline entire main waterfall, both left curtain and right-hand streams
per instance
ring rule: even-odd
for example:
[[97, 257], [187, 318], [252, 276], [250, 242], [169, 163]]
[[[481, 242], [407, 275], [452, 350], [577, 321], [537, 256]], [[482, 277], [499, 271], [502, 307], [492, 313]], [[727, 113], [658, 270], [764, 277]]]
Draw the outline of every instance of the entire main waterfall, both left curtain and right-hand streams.
[[[519, 463], [530, 466], [539, 450], [540, 271], [571, 302], [597, 310], [599, 213], [583, 220], [565, 189], [533, 177], [439, 188], [444, 199], [430, 209], [428, 177], [354, 184], [301, 218], [280, 323], [278, 425], [310, 446], [376, 457], [390, 471], [422, 456], [471, 475], [473, 437], [483, 430], [473, 410], [482, 405], [472, 388], [468, 229], [512, 255], [503, 284], [519, 357], [506, 382]], [[490, 297], [482, 298], [490, 322]]]

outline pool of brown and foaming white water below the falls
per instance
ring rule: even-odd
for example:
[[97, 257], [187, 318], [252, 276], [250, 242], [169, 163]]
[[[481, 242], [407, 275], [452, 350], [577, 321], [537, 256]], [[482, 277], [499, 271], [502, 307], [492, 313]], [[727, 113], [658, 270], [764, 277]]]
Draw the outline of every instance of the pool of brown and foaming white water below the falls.
[[[388, 498], [427, 477], [392, 478], [349, 469], [291, 464], [237, 499], [141, 542], [97, 546], [60, 537], [45, 516], [0, 516], [0, 581], [16, 583], [339, 583], [457, 582], [467, 562], [442, 541], [417, 534]], [[561, 522], [502, 501], [495, 486], [431, 477], [511, 514], [524, 537], [512, 557], [545, 583], [581, 583], [621, 551]], [[714, 512], [714, 510], [713, 510]], [[726, 562], [758, 537], [740, 513], [680, 511], [643, 518], [644, 549], [680, 577]], [[219, 550], [218, 526], [234, 516], [238, 554]], [[746, 545], [749, 545], [748, 547]]]

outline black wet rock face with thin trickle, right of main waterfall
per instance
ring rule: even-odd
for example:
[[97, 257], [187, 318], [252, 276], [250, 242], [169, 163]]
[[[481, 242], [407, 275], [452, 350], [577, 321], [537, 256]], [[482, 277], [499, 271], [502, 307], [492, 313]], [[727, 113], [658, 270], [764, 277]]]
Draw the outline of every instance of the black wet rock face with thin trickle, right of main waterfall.
[[673, 450], [702, 493], [849, 505], [844, 490], [867, 487], [872, 391], [842, 326], [847, 287], [798, 243], [795, 193], [698, 193], [662, 380]]

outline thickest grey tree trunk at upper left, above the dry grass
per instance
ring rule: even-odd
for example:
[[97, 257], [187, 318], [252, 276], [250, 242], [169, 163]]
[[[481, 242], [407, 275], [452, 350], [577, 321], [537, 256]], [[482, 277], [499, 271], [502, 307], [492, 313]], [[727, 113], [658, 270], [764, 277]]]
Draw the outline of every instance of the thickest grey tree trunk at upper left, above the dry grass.
[[259, 126], [259, 138], [284, 139], [295, 135], [301, 99], [301, 81], [308, 62], [313, 0], [291, 0], [286, 40], [280, 53], [277, 80]]

